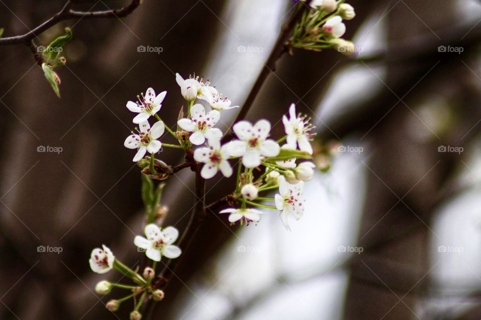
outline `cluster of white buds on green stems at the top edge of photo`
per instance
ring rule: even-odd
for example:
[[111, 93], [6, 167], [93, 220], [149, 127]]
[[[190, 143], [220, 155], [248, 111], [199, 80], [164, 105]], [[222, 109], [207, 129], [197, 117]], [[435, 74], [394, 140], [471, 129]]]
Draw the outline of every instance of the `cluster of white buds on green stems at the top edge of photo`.
[[342, 38], [346, 33], [344, 20], [356, 16], [354, 7], [343, 0], [313, 0], [312, 11], [306, 10], [295, 28], [291, 44], [298, 48], [319, 51], [333, 48], [342, 54], [350, 55], [356, 47], [351, 41]]

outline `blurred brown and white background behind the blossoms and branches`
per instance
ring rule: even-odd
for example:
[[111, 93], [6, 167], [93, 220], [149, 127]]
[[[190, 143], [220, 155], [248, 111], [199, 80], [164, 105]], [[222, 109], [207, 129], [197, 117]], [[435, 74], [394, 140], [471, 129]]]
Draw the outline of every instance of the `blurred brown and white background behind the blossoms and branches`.
[[[0, 0], [4, 36], [64, 3]], [[481, 317], [481, 4], [349, 3], [357, 16], [345, 38], [357, 58], [295, 49], [248, 116], [268, 118], [281, 136], [294, 102], [317, 125], [316, 144], [340, 144], [331, 169], [308, 184], [304, 217], [288, 232], [273, 211], [242, 228], [210, 213], [153, 318]], [[161, 115], [172, 126], [184, 103], [174, 74], [195, 72], [242, 106], [293, 12], [290, 0], [144, 0], [122, 20], [64, 21], [35, 39], [47, 45], [73, 30], [67, 64], [56, 69], [61, 99], [26, 46], [0, 46], [1, 319], [128, 318], [130, 304], [104, 306], [123, 292], [93, 291], [120, 276], [88, 265], [102, 243], [130, 266], [143, 256], [132, 243], [143, 212], [139, 168], [123, 146], [133, 127], [126, 101], [149, 86], [167, 90]], [[223, 131], [237, 111], [224, 111]], [[171, 164], [182, 156], [160, 154]], [[208, 202], [228, 183], [209, 180]], [[188, 170], [169, 178], [165, 225], [185, 227], [191, 185]]]

